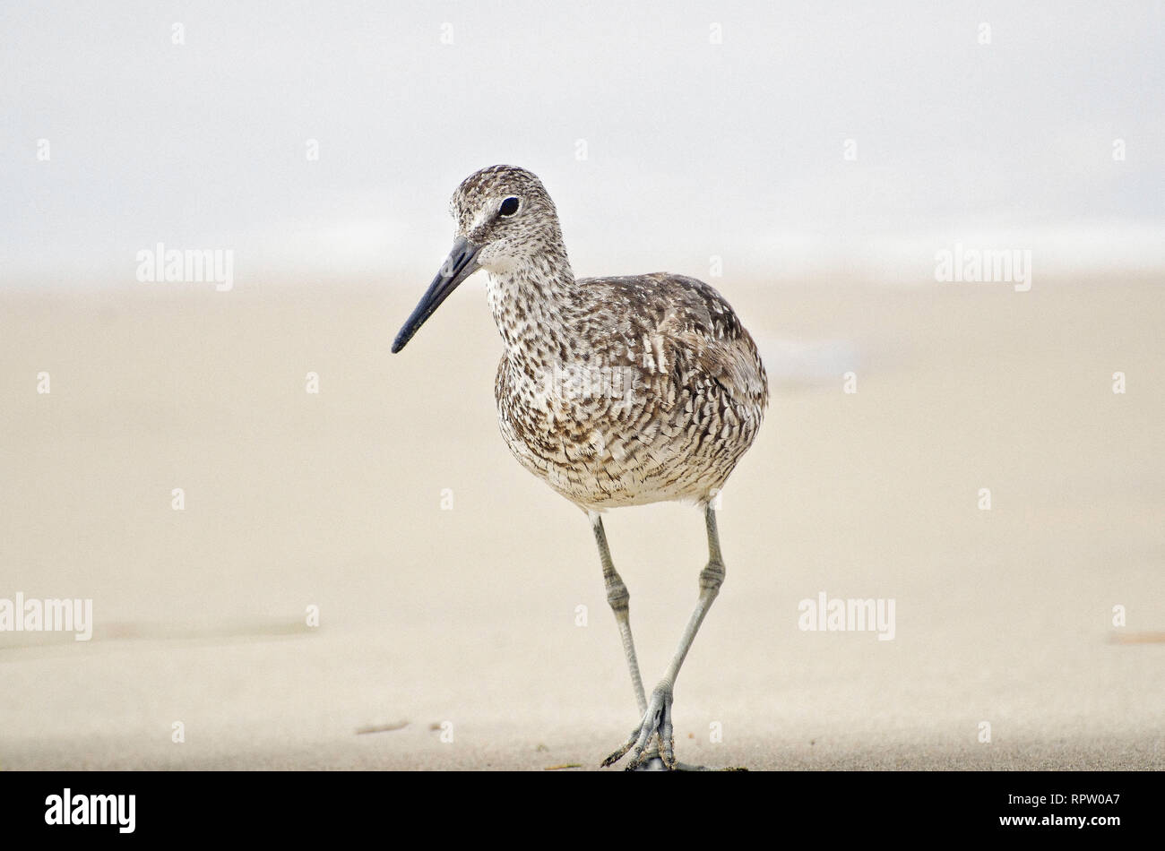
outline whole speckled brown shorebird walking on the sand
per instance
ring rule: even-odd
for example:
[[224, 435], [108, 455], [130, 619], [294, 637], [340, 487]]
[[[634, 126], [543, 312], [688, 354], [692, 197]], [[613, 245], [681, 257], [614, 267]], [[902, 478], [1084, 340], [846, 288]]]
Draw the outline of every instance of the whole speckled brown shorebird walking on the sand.
[[[629, 770], [675, 770], [676, 678], [725, 577], [714, 502], [768, 404], [756, 345], [720, 293], [694, 278], [576, 278], [553, 201], [525, 169], [474, 172], [450, 212], [453, 249], [393, 352], [463, 281], [486, 270], [504, 343], [494, 383], [502, 437], [523, 467], [586, 512], [638, 703], [638, 724], [602, 765], [634, 749]], [[602, 512], [668, 501], [702, 510], [708, 561], [679, 647], [648, 695]]]

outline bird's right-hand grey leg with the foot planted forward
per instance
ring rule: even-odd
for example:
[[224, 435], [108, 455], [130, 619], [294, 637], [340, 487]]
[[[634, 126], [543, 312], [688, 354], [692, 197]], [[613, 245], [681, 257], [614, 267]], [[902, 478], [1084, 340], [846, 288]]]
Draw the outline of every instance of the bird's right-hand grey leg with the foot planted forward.
[[676, 685], [676, 678], [679, 675], [679, 668], [687, 657], [687, 651], [692, 648], [692, 641], [696, 640], [696, 633], [699, 631], [700, 624], [704, 623], [704, 616], [708, 614], [712, 601], [716, 598], [716, 595], [720, 593], [720, 586], [725, 580], [725, 562], [720, 555], [716, 517], [711, 504], [704, 510], [704, 519], [708, 529], [708, 563], [700, 570], [700, 598], [696, 603], [696, 610], [692, 612], [692, 617], [689, 618], [687, 626], [684, 627], [684, 634], [679, 638], [679, 648], [676, 651], [676, 655], [672, 657], [666, 673], [663, 675], [659, 685], [651, 692], [651, 700], [648, 703], [647, 711], [643, 714], [643, 721], [637, 729], [631, 731], [627, 742], [602, 761], [603, 766], [612, 765], [622, 759], [623, 754], [631, 750], [633, 746], [635, 747], [635, 752], [627, 767], [628, 770], [633, 770], [642, 766], [655, 756], [652, 751], [647, 749], [651, 744], [651, 740], [658, 736], [659, 757], [663, 759], [664, 766], [676, 768], [676, 738], [671, 725], [672, 688]]

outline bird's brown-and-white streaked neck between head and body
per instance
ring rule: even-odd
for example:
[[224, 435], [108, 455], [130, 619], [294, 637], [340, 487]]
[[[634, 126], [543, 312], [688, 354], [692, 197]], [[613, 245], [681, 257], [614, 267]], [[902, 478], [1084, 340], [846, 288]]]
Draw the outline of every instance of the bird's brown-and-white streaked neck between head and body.
[[[486, 292], [507, 353], [520, 355], [560, 339], [576, 312], [574, 272], [566, 253], [539, 253], [507, 269], [488, 270]], [[557, 355], [555, 353], [546, 353]]]

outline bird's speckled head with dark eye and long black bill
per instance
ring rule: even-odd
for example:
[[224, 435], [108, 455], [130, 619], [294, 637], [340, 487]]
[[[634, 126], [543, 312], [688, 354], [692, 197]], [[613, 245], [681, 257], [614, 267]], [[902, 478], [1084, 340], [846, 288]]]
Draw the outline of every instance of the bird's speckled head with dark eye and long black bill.
[[534, 173], [516, 165], [490, 165], [469, 175], [449, 201], [457, 222], [453, 248], [416, 310], [401, 327], [393, 352], [400, 352], [478, 269], [506, 272], [562, 248], [558, 213]]

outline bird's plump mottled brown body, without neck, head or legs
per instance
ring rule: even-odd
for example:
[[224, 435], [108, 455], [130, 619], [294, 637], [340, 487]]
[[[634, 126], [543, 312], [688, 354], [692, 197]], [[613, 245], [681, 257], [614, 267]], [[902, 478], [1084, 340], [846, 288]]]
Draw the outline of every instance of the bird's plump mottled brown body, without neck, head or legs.
[[581, 278], [557, 336], [499, 368], [502, 434], [523, 466], [586, 509], [705, 502], [723, 487], [768, 381], [719, 292], [663, 272]]

